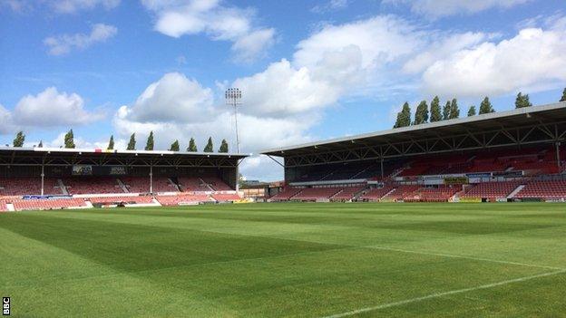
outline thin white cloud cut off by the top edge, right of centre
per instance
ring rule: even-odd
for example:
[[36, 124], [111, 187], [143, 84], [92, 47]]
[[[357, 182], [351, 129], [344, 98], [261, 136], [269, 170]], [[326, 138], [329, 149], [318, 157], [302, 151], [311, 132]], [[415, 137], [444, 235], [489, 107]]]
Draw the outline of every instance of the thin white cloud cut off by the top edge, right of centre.
[[415, 14], [438, 18], [453, 14], [475, 14], [491, 8], [507, 9], [531, 0], [386, 0], [389, 4], [408, 4]]

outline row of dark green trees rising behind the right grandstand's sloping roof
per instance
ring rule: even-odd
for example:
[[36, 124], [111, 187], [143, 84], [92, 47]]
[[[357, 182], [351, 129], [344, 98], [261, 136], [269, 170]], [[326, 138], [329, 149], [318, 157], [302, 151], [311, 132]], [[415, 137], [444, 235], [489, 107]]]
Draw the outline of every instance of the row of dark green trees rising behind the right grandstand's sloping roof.
[[[560, 101], [566, 101], [566, 88], [562, 92], [562, 97]], [[529, 94], [522, 94], [519, 92], [517, 98], [515, 99], [515, 108], [531, 107], [532, 103], [529, 101]], [[475, 105], [468, 108], [467, 116], [472, 117], [476, 114], [486, 114], [490, 112], [495, 112], [493, 109], [492, 102], [489, 97], [485, 97], [480, 103], [479, 111], [476, 110]], [[420, 125], [427, 122], [435, 122], [441, 120], [454, 120], [460, 117], [460, 108], [458, 106], [458, 101], [454, 98], [452, 101], [446, 101], [444, 106], [441, 108], [440, 99], [438, 96], [434, 96], [433, 101], [430, 103], [430, 109], [426, 101], [421, 101], [416, 106], [415, 120], [411, 120], [411, 106], [405, 101], [403, 104], [403, 109], [397, 113], [397, 119], [395, 120], [395, 125], [393, 128], [407, 127], [411, 125]]]

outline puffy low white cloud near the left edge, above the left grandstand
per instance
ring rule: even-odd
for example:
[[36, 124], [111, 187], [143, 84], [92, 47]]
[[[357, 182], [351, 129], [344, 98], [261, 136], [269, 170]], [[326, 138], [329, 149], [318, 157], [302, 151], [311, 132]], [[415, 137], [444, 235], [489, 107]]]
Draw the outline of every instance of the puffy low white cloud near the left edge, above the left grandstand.
[[60, 93], [50, 87], [35, 96], [24, 96], [16, 104], [12, 118], [20, 126], [55, 127], [84, 125], [101, 120], [103, 114], [86, 111], [78, 94]]

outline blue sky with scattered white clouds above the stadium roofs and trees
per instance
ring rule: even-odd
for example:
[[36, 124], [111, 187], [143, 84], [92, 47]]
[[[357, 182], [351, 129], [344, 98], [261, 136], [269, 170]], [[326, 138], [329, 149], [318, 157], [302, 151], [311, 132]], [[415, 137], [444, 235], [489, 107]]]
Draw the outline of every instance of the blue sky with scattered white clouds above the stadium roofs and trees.
[[[488, 95], [557, 101], [566, 5], [542, 0], [0, 0], [0, 142], [117, 147], [150, 130], [234, 145], [223, 91], [244, 91], [241, 146], [257, 152], [389, 129], [405, 101]], [[242, 167], [278, 179], [269, 159]]]

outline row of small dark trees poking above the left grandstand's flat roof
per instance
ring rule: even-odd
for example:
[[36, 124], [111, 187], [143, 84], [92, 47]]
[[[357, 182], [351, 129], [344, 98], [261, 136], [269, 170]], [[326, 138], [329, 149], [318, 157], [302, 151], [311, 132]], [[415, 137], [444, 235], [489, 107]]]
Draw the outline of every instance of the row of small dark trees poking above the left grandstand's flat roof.
[[[18, 131], [15, 134], [15, 139], [13, 142], [14, 147], [24, 147], [24, 141], [25, 141], [25, 134], [24, 131]], [[62, 146], [62, 148], [67, 148], [67, 149], [74, 149], [75, 148], [75, 144], [74, 144], [74, 134], [73, 134], [73, 130], [69, 130], [67, 131], [67, 133], [64, 136], [64, 146]], [[150, 135], [148, 136], [148, 139], [145, 143], [145, 150], [153, 150], [153, 146], [154, 146], [154, 140], [153, 140], [153, 131], [150, 132]], [[44, 142], [39, 141], [39, 144], [37, 145], [38, 148], [42, 148], [44, 147]], [[110, 140], [108, 140], [108, 147], [106, 149], [112, 150], [114, 149], [114, 136], [110, 136]], [[126, 150], [136, 150], [136, 138], [135, 138], [135, 133], [132, 133], [132, 136], [130, 136], [130, 141], [128, 142], [128, 146], [126, 148]], [[181, 145], [179, 143], [179, 140], [175, 140], [171, 143], [171, 147], [169, 148], [170, 151], [180, 151], [181, 150]], [[189, 147], [187, 147], [187, 151], [188, 152], [198, 152], [199, 149], [197, 148], [197, 143], [194, 140], [194, 138], [191, 138], [189, 140]], [[214, 144], [212, 143], [212, 137], [209, 137], [209, 140], [206, 144], [206, 146], [204, 147], [204, 149], [202, 149], [203, 152], [214, 152]], [[218, 149], [218, 152], [223, 152], [223, 153], [228, 153], [229, 152], [229, 147], [228, 147], [228, 142], [226, 140], [222, 140], [220, 142], [220, 148]]]

